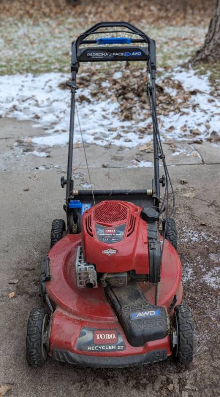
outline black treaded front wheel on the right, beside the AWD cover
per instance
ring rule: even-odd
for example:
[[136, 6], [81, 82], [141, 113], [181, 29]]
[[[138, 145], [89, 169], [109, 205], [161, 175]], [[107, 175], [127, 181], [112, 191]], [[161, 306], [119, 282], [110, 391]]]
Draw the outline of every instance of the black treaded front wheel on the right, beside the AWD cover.
[[193, 360], [193, 317], [188, 305], [177, 305], [173, 313], [173, 357], [180, 364]]

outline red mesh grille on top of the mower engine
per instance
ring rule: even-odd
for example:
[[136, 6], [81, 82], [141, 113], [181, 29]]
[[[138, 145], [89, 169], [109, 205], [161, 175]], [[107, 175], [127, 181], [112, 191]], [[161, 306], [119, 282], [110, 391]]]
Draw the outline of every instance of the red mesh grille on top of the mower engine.
[[119, 202], [104, 202], [95, 208], [94, 220], [103, 223], [118, 222], [127, 219], [128, 208]]

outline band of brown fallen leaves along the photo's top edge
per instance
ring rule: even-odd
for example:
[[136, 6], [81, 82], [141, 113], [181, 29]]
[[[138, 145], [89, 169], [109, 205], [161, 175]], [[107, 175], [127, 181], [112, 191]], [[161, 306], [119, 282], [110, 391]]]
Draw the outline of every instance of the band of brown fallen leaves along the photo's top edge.
[[[0, 15], [52, 18], [71, 14], [78, 24], [92, 25], [100, 21], [125, 20], [134, 24], [183, 25], [209, 23], [215, 0], [2, 0]], [[86, 21], [86, 22], [85, 22]]]

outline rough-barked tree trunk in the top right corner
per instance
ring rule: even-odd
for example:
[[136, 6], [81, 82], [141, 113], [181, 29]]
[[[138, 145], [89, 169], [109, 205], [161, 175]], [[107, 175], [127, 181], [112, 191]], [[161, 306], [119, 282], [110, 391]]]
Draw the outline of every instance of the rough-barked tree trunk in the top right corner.
[[220, 0], [216, 2], [214, 15], [210, 21], [203, 46], [191, 59], [191, 63], [220, 61]]

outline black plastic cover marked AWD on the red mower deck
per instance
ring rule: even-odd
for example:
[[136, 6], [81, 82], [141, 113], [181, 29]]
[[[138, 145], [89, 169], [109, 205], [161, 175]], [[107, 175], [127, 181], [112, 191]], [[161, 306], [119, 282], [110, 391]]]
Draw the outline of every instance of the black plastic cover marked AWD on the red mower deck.
[[105, 289], [132, 346], [144, 346], [167, 335], [165, 309], [150, 304], [136, 281], [131, 280], [126, 287]]

